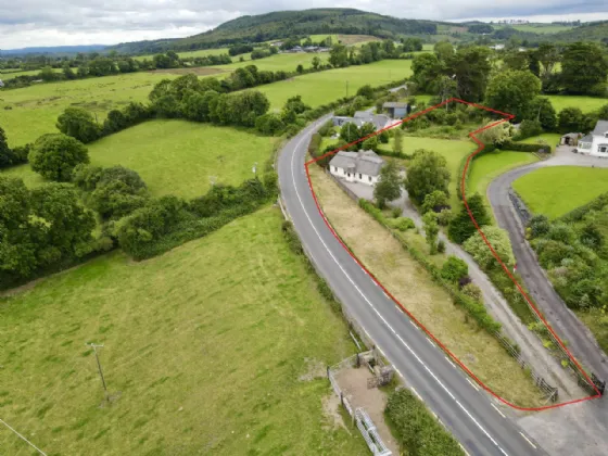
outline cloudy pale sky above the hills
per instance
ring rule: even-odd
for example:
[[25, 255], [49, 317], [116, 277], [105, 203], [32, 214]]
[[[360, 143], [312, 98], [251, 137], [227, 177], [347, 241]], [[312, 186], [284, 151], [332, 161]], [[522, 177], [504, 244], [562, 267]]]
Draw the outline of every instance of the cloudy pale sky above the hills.
[[7, 0], [0, 49], [180, 38], [242, 15], [327, 7], [442, 21], [608, 20], [606, 0]]

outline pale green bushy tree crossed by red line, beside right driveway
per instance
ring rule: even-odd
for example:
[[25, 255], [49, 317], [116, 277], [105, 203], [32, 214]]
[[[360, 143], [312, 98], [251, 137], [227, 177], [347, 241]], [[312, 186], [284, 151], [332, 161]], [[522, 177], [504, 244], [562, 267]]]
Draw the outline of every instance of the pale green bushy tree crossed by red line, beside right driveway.
[[[515, 259], [507, 231], [495, 226], [483, 226], [481, 230], [485, 236], [485, 240], [490, 242], [494, 252], [496, 252], [503, 263], [507, 266], [512, 265]], [[463, 246], [483, 269], [499, 267], [493, 252], [487, 248], [485, 240], [481, 237], [480, 232], [477, 231], [467, 239]]]

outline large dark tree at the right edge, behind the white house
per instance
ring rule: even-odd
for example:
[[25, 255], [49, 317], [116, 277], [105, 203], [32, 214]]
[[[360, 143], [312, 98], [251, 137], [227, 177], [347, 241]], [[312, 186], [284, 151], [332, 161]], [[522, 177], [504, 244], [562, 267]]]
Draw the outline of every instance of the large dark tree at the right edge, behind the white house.
[[566, 48], [561, 83], [570, 93], [605, 94], [608, 62], [594, 42], [575, 42]]

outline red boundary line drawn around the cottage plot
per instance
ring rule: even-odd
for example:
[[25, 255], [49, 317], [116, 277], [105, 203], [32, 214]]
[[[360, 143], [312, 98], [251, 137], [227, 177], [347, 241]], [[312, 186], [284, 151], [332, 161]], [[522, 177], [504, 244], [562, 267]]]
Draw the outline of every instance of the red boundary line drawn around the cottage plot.
[[[465, 207], [467, 208], [467, 212], [469, 213], [469, 217], [471, 218], [471, 220], [473, 221], [477, 230], [479, 231], [479, 233], [481, 235], [481, 238], [483, 239], [483, 241], [485, 242], [485, 244], [487, 245], [487, 248], [492, 251], [492, 254], [494, 255], [494, 257], [496, 258], [496, 261], [501, 264], [502, 268], [505, 270], [505, 273], [507, 274], [507, 276], [511, 279], [511, 281], [516, 284], [517, 289], [519, 290], [519, 292], [521, 293], [521, 295], [525, 299], [525, 301], [528, 301], [528, 303], [530, 304], [530, 306], [534, 309], [534, 313], [539, 316], [539, 318], [543, 321], [543, 324], [547, 327], [547, 329], [550, 331], [550, 333], [555, 337], [555, 339], [558, 341], [559, 345], [566, 351], [566, 353], [568, 354], [568, 356], [570, 357], [570, 359], [572, 360], [572, 363], [574, 363], [574, 365], [577, 366], [577, 368], [579, 369], [579, 371], [584, 376], [584, 378], [586, 379], [586, 381], [594, 388], [594, 390], [596, 391], [597, 394], [592, 395], [592, 396], [586, 396], [583, 398], [578, 398], [578, 400], [573, 400], [573, 401], [568, 401], [565, 403], [560, 403], [560, 404], [553, 404], [553, 405], [546, 405], [544, 407], [520, 407], [518, 405], [511, 404], [510, 402], [508, 402], [507, 400], [501, 397], [499, 395], [497, 395], [494, 391], [492, 391], [489, 387], [486, 387], [480, 379], [477, 378], [477, 376], [467, 367], [465, 366], [465, 364], [463, 362], [460, 362], [460, 359], [458, 359], [442, 342], [440, 342], [420, 321], [418, 321], [418, 319], [407, 309], [405, 308], [405, 306], [400, 303], [397, 301], [397, 299], [395, 296], [393, 296], [391, 294], [391, 292], [389, 290], [387, 290], [384, 288], [384, 286], [382, 283], [380, 283], [380, 281], [363, 265], [363, 263], [355, 256], [355, 254], [353, 252], [351, 252], [351, 250], [346, 246], [346, 244], [344, 242], [342, 242], [342, 239], [340, 238], [340, 236], [334, 231], [333, 227], [331, 226], [331, 224], [328, 221], [327, 217], [325, 216], [325, 213], [322, 212], [320, 204], [317, 200], [317, 195], [315, 194], [315, 190], [313, 189], [313, 182], [311, 180], [311, 174], [308, 172], [308, 165], [326, 157], [329, 155], [333, 155], [337, 152], [347, 149], [351, 145], [357, 144], [359, 142], [365, 141], [368, 138], [371, 138], [373, 136], [377, 136], [379, 134], [381, 134], [382, 131], [389, 130], [391, 128], [394, 128], [401, 124], [403, 124], [404, 122], [408, 122], [411, 121], [416, 117], [419, 117], [423, 114], [427, 114], [430, 111], [433, 111], [438, 107], [441, 107], [449, 102], [457, 102], [457, 103], [463, 103], [463, 104], [468, 104], [470, 106], [474, 106], [478, 107], [480, 110], [485, 110], [485, 111], [490, 111], [492, 113], [495, 114], [499, 114], [502, 115], [503, 118], [502, 121], [497, 121], [491, 125], [486, 125], [485, 127], [479, 128], [472, 132], [469, 134], [469, 137], [479, 145], [479, 148], [473, 151], [467, 159], [467, 163], [465, 165], [465, 169], [463, 172], [463, 176], [460, 179], [460, 189], [463, 192], [463, 202], [465, 203]], [[509, 271], [509, 268], [503, 263], [503, 261], [501, 259], [501, 257], [497, 255], [496, 251], [494, 250], [494, 248], [492, 246], [492, 244], [487, 241], [487, 238], [485, 237], [485, 235], [483, 233], [483, 231], [481, 230], [480, 226], [478, 225], [477, 220], [474, 219], [471, 210], [469, 208], [469, 205], [467, 203], [467, 197], [466, 197], [466, 192], [465, 192], [465, 188], [466, 188], [466, 175], [467, 175], [467, 169], [469, 168], [470, 162], [472, 160], [473, 156], [476, 156], [477, 154], [479, 154], [484, 148], [485, 144], [480, 141], [474, 135], [483, 131], [487, 128], [492, 128], [496, 125], [503, 124], [505, 122], [511, 121], [515, 116], [512, 114], [507, 114], [507, 113], [503, 113], [501, 111], [497, 110], [493, 110], [491, 107], [486, 107], [486, 106], [482, 106], [480, 104], [476, 104], [476, 103], [471, 103], [468, 101], [464, 101], [464, 100], [459, 100], [457, 98], [452, 98], [449, 100], [446, 100], [442, 103], [435, 104], [434, 106], [428, 107], [423, 111], [417, 112], [415, 114], [411, 114], [410, 116], [403, 118], [401, 121], [395, 122], [392, 125], [389, 125], [388, 127], [382, 128], [381, 130], [375, 131], [370, 135], [367, 135], [365, 138], [358, 139], [356, 141], [353, 141], [349, 144], [344, 144], [341, 148], [338, 148], [333, 151], [327, 152], [321, 156], [318, 156], [316, 159], [313, 159], [306, 163], [304, 163], [304, 167], [306, 169], [306, 177], [308, 179], [308, 187], [311, 188], [311, 193], [313, 194], [313, 199], [315, 200], [315, 204], [317, 206], [317, 210], [319, 211], [319, 214], [321, 215], [325, 224], [327, 225], [327, 227], [329, 228], [329, 230], [331, 231], [331, 233], [334, 236], [334, 238], [338, 240], [338, 242], [340, 242], [340, 244], [342, 244], [342, 246], [344, 248], [344, 250], [353, 257], [353, 259], [360, 266], [360, 268], [363, 270], [365, 270], [367, 273], [367, 275], [369, 277], [371, 277], [371, 279], [378, 284], [378, 287], [380, 287], [384, 293], [387, 293], [387, 295], [389, 295], [391, 297], [391, 300], [393, 300], [398, 306], [400, 308], [405, 312], [407, 314], [407, 316], [409, 318], [411, 318], [411, 320], [414, 320], [416, 322], [416, 325], [418, 325], [418, 327], [420, 327], [433, 341], [435, 341], [441, 347], [442, 350], [447, 353], [449, 355], [449, 357], [452, 359], [454, 359], [456, 363], [458, 363], [458, 365], [480, 385], [482, 387], [485, 391], [487, 391], [490, 394], [492, 394], [494, 397], [496, 397], [498, 401], [501, 401], [502, 403], [516, 408], [518, 410], [527, 410], [527, 411], [539, 411], [539, 410], [546, 410], [549, 408], [557, 408], [557, 407], [562, 407], [565, 405], [569, 405], [569, 404], [577, 404], [580, 402], [584, 402], [584, 401], [588, 401], [592, 398], [596, 398], [596, 397], [600, 397], [601, 394], [599, 393], [599, 390], [597, 389], [597, 387], [593, 383], [593, 381], [588, 378], [588, 376], [586, 375], [586, 372], [584, 371], [584, 369], [579, 365], [579, 363], [577, 362], [577, 359], [572, 356], [572, 354], [568, 351], [568, 349], [563, 345], [563, 343], [561, 342], [561, 340], [559, 339], [559, 337], [555, 333], [555, 331], [553, 330], [553, 328], [549, 326], [549, 324], [545, 320], [545, 318], [541, 315], [541, 313], [539, 312], [539, 309], [536, 308], [536, 306], [532, 303], [532, 300], [528, 296], [528, 294], [523, 291], [523, 289], [521, 288], [521, 286], [519, 284], [519, 282], [517, 281], [517, 279], [511, 275], [511, 273]]]

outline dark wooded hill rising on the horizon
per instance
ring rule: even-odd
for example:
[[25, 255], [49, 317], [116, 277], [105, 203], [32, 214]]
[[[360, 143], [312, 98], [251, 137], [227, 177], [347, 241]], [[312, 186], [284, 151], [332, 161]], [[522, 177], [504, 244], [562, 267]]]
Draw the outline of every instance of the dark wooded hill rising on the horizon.
[[343, 8], [278, 11], [228, 21], [213, 30], [175, 40], [136, 41], [110, 47], [124, 53], [218, 48], [235, 42], [262, 42], [293, 36], [343, 34], [395, 38], [400, 35], [434, 35], [434, 21], [402, 20]]

